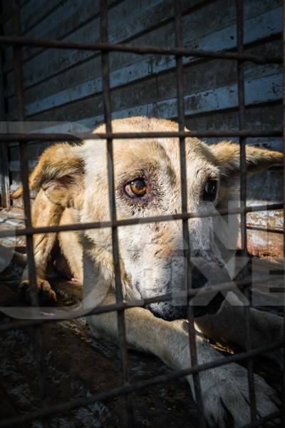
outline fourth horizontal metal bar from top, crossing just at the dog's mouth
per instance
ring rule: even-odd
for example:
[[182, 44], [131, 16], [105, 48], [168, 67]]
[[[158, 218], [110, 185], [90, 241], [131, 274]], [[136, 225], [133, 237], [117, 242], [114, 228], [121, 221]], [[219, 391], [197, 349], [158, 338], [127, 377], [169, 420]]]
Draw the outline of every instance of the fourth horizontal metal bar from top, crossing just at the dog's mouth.
[[[259, 282], [259, 285], [267, 284], [268, 281], [261, 281]], [[251, 282], [249, 280], [237, 280], [234, 283], [233, 282], [226, 282], [224, 284], [220, 285], [214, 285], [212, 287], [204, 287], [204, 288], [192, 288], [188, 292], [188, 297], [193, 298], [199, 293], [199, 297], [201, 296], [207, 296], [212, 295], [213, 292], [227, 292], [232, 290], [244, 290], [247, 287], [251, 285]], [[169, 302], [171, 300], [180, 300], [185, 299], [185, 291], [177, 291], [177, 292], [171, 292], [167, 293], [165, 295], [158, 295], [155, 297], [148, 297], [145, 299], [140, 300], [129, 300], [129, 301], [123, 301], [118, 303], [113, 303], [112, 305], [103, 305], [98, 307], [93, 307], [92, 309], [81, 309], [78, 308], [78, 310], [71, 310], [70, 308], [66, 311], [65, 316], [61, 315], [61, 317], [53, 317], [53, 318], [44, 318], [43, 320], [20, 320], [20, 321], [13, 321], [9, 322], [7, 324], [0, 325], [0, 333], [6, 332], [9, 330], [15, 330], [17, 328], [27, 328], [31, 327], [33, 325], [39, 325], [39, 324], [46, 324], [49, 322], [57, 322], [59, 320], [76, 320], [76, 318], [80, 317], [90, 317], [93, 315], [103, 314], [106, 312], [113, 312], [115, 310], [128, 310], [132, 307], [145, 307], [147, 305], [150, 305], [150, 303], [157, 303], [157, 302]], [[41, 307], [41, 310], [44, 310], [43, 307]], [[1, 310], [0, 310], [1, 312]], [[5, 314], [6, 312], [3, 311]]]

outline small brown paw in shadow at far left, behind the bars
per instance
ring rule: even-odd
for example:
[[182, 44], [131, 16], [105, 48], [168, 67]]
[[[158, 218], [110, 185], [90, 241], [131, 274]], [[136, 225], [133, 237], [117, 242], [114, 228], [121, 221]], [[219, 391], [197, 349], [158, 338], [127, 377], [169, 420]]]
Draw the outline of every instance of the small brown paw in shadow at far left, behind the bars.
[[[40, 305], [55, 305], [56, 293], [52, 290], [48, 281], [42, 278], [37, 278], [36, 285], [38, 287], [38, 300]], [[22, 280], [18, 287], [20, 300], [31, 304], [31, 285], [28, 280]]]

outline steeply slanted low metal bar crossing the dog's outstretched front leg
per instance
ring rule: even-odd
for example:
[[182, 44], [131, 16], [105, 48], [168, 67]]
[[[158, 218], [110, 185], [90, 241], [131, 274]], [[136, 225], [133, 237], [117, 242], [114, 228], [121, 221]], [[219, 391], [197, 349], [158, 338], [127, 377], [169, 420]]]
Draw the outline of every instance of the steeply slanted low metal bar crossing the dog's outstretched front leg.
[[46, 407], [44, 409], [39, 409], [39, 410], [36, 410], [35, 412], [31, 412], [28, 414], [21, 414], [21, 416], [19, 417], [11, 417], [10, 419], [5, 419], [3, 422], [0, 422], [0, 427], [1, 428], [14, 427], [16, 424], [21, 424], [23, 426], [24, 423], [31, 422], [41, 417], [52, 416], [53, 414], [58, 414], [63, 412], [70, 412], [71, 410], [77, 409], [78, 407], [85, 407], [85, 406], [88, 406], [89, 404], [93, 404], [94, 402], [101, 401], [103, 399], [130, 393], [138, 389], [147, 388], [158, 383], [170, 382], [173, 379], [189, 376], [190, 374], [194, 374], [198, 372], [204, 372], [205, 370], [210, 370], [213, 367], [221, 367], [223, 365], [231, 364], [232, 362], [239, 362], [242, 360], [246, 360], [249, 357], [255, 357], [256, 355], [263, 354], [264, 352], [269, 352], [272, 350], [276, 350], [280, 347], [284, 347], [284, 345], [285, 345], [284, 341], [275, 342], [275, 343], [272, 343], [271, 345], [259, 347], [249, 352], [240, 352], [239, 354], [230, 355], [229, 357], [222, 357], [219, 360], [206, 362], [202, 365], [195, 365], [193, 367], [188, 367], [187, 369], [182, 369], [182, 370], [177, 370], [175, 372], [161, 374], [159, 376], [151, 377], [150, 379], [144, 379], [138, 382], [133, 382], [132, 384], [125, 384], [123, 385], [123, 387], [108, 389], [106, 391], [99, 392], [98, 394], [94, 394], [91, 397], [73, 399], [70, 402], [56, 404], [54, 406]]

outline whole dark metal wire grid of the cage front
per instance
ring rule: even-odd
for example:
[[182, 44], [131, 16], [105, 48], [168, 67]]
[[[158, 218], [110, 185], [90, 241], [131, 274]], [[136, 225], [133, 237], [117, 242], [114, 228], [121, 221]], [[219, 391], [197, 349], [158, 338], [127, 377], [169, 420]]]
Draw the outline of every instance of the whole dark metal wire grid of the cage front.
[[[271, 204], [271, 205], [258, 205], [254, 207], [247, 206], [247, 165], [245, 161], [245, 138], [249, 136], [283, 136], [282, 132], [279, 131], [258, 131], [245, 129], [245, 108], [244, 108], [244, 61], [253, 61], [254, 63], [283, 63], [283, 58], [279, 56], [256, 56], [252, 54], [244, 53], [244, 17], [243, 17], [243, 0], [236, 0], [237, 4], [237, 52], [221, 52], [221, 51], [197, 51], [193, 49], [182, 48], [182, 2], [181, 0], [175, 1], [175, 49], [160, 48], [154, 46], [130, 46], [128, 44], [111, 44], [108, 42], [108, 3], [104, 0], [100, 0], [100, 34], [101, 42], [92, 43], [76, 43], [71, 41], [56, 41], [56, 40], [43, 40], [43, 39], [27, 39], [21, 37], [21, 22], [20, 22], [20, 1], [15, 0], [14, 6], [14, 24], [15, 24], [15, 35], [14, 36], [0, 36], [1, 46], [13, 46], [14, 48], [14, 69], [16, 77], [16, 96], [17, 96], [17, 111], [18, 121], [25, 120], [25, 108], [24, 108], [24, 86], [23, 86], [23, 61], [21, 56], [21, 50], [24, 46], [42, 46], [46, 48], [56, 49], [81, 49], [88, 51], [100, 51], [101, 52], [101, 69], [103, 76], [103, 104], [104, 104], [104, 118], [105, 118], [105, 133], [82, 133], [77, 136], [71, 136], [70, 134], [63, 133], [9, 133], [0, 134], [1, 143], [9, 143], [10, 141], [18, 141], [20, 148], [20, 159], [21, 159], [21, 182], [23, 185], [23, 198], [24, 198], [24, 214], [25, 214], [25, 227], [16, 230], [16, 235], [26, 236], [26, 250], [28, 255], [28, 275], [29, 281], [33, 287], [32, 303], [38, 305], [38, 295], [36, 287], [36, 265], [33, 254], [33, 235], [37, 233], [51, 233], [60, 232], [67, 230], [85, 230], [95, 228], [111, 228], [112, 230], [112, 243], [113, 243], [113, 265], [115, 272], [115, 291], [116, 291], [116, 303], [113, 305], [105, 305], [95, 307], [90, 310], [86, 316], [99, 314], [103, 312], [110, 312], [116, 310], [118, 313], [118, 331], [120, 340], [120, 360], [122, 363], [123, 372], [123, 384], [120, 387], [108, 389], [106, 391], [94, 394], [90, 397], [84, 397], [82, 399], [73, 399], [69, 402], [63, 402], [53, 406], [48, 406], [46, 403], [46, 369], [45, 369], [45, 358], [44, 358], [44, 347], [42, 340], [42, 329], [47, 322], [55, 322], [55, 320], [21, 320], [10, 322], [9, 324], [0, 325], [0, 332], [6, 332], [19, 327], [33, 327], [33, 335], [36, 342], [36, 350], [38, 352], [38, 378], [39, 378], [39, 394], [41, 400], [41, 407], [28, 414], [24, 414], [21, 417], [12, 417], [10, 419], [4, 419], [0, 422], [0, 427], [14, 427], [16, 424], [24, 424], [25, 422], [31, 422], [35, 420], [41, 420], [44, 425], [48, 425], [48, 417], [56, 415], [60, 412], [70, 411], [78, 407], [83, 407], [88, 404], [92, 404], [95, 401], [102, 400], [108, 397], [115, 397], [118, 395], [125, 396], [126, 414], [127, 414], [127, 425], [131, 427], [134, 425], [133, 408], [131, 402], [131, 392], [150, 387], [151, 385], [167, 382], [171, 379], [178, 377], [185, 377], [186, 375], [192, 375], [195, 385], [195, 395], [197, 406], [199, 407], [199, 427], [205, 427], [205, 419], [203, 415], [203, 402], [201, 395], [201, 388], [199, 384], [199, 373], [204, 370], [209, 370], [213, 367], [219, 367], [227, 365], [232, 362], [240, 362], [242, 360], [247, 361], [248, 369], [248, 383], [249, 383], [249, 397], [251, 403], [251, 423], [247, 427], [259, 427], [265, 422], [275, 419], [276, 417], [282, 417], [285, 424], [285, 374], [284, 374], [284, 411], [274, 412], [266, 417], [257, 419], [257, 406], [254, 391], [254, 374], [252, 369], [252, 357], [261, 355], [261, 353], [268, 352], [270, 350], [276, 350], [277, 348], [285, 345], [285, 337], [281, 342], [273, 342], [270, 345], [252, 349], [251, 346], [251, 332], [249, 322], [249, 307], [244, 308], [244, 315], [247, 319], [247, 350], [246, 352], [239, 352], [238, 354], [230, 357], [223, 357], [216, 361], [204, 363], [202, 365], [197, 364], [197, 350], [195, 346], [195, 326], [194, 326], [194, 314], [192, 307], [188, 305], [188, 321], [189, 321], [189, 341], [190, 341], [190, 357], [191, 365], [185, 370], [177, 370], [175, 372], [167, 373], [152, 377], [150, 379], [144, 379], [137, 382], [130, 382], [129, 374], [129, 362], [128, 362], [128, 349], [125, 336], [125, 317], [124, 311], [130, 307], [145, 306], [151, 302], [166, 302], [172, 300], [175, 297], [180, 297], [180, 292], [172, 292], [171, 295], [160, 295], [157, 297], [151, 297], [144, 300], [128, 301], [126, 302], [123, 298], [123, 290], [120, 279], [120, 263], [119, 263], [119, 249], [118, 249], [118, 228], [124, 225], [135, 225], [138, 223], [153, 223], [161, 221], [172, 221], [182, 220], [183, 225], [183, 238], [185, 245], [185, 281], [187, 290], [187, 301], [190, 298], [195, 297], [197, 289], [191, 287], [191, 260], [190, 260], [190, 236], [187, 226], [187, 220], [190, 218], [201, 218], [210, 217], [215, 215], [227, 215], [227, 214], [239, 214], [241, 217], [241, 240], [242, 240], [242, 252], [247, 253], [247, 229], [250, 228], [246, 223], [246, 215], [250, 212], [259, 212], [261, 210], [277, 210], [282, 209], [285, 213], [285, 198], [284, 203]], [[284, 19], [285, 21], [285, 19]], [[144, 133], [113, 133], [112, 121], [111, 121], [111, 102], [110, 102], [110, 81], [109, 81], [109, 53], [112, 51], [123, 51], [132, 52], [135, 54], [160, 54], [160, 55], [173, 55], [176, 58], [176, 73], [177, 73], [177, 111], [178, 111], [178, 122], [179, 131], [177, 132], [144, 132]], [[239, 95], [239, 131], [185, 131], [185, 113], [184, 113], [184, 93], [183, 93], [183, 56], [195, 56], [197, 58], [219, 58], [219, 59], [232, 59], [237, 61], [237, 88]], [[285, 126], [285, 115], [284, 124]], [[220, 210], [217, 212], [207, 213], [188, 213], [187, 212], [187, 183], [186, 177], [186, 161], [185, 161], [185, 138], [190, 136], [197, 137], [229, 137], [238, 136], [240, 145], [240, 208], [234, 210]], [[115, 186], [114, 186], [114, 166], [113, 166], [113, 139], [115, 138], [155, 138], [155, 137], [177, 137], [180, 140], [180, 171], [181, 171], [181, 195], [182, 195], [182, 212], [175, 215], [160, 215], [156, 217], [147, 218], [131, 218], [125, 220], [117, 220], [115, 210]], [[93, 222], [93, 223], [81, 223], [71, 225], [58, 225], [51, 227], [37, 227], [33, 228], [31, 223], [31, 204], [29, 198], [28, 188], [28, 158], [26, 152], [26, 143], [28, 141], [82, 141], [82, 140], [95, 140], [96, 138], [104, 138], [107, 141], [108, 147], [108, 185], [109, 185], [109, 205], [110, 205], [110, 221], [105, 222]], [[285, 143], [284, 143], [285, 149]], [[284, 178], [285, 180], [285, 178]], [[285, 183], [285, 182], [284, 182]], [[285, 184], [284, 184], [285, 190]], [[252, 229], [259, 229], [254, 228]], [[262, 230], [271, 231], [270, 228]], [[279, 231], [279, 230], [278, 230]], [[0, 238], [11, 235], [10, 230], [1, 230]], [[252, 280], [247, 277], [247, 280], [238, 280], [235, 285], [231, 283], [222, 284], [215, 286], [220, 291], [232, 290], [236, 285], [240, 289], [244, 290], [247, 297], [250, 298], [250, 287]], [[201, 293], [201, 290], [199, 290]], [[202, 290], [202, 293], [207, 295], [211, 293], [211, 290]], [[79, 315], [78, 315], [79, 316]], [[285, 320], [285, 313], [284, 313]], [[284, 322], [285, 325], [285, 322]], [[285, 330], [285, 329], [284, 329]]]

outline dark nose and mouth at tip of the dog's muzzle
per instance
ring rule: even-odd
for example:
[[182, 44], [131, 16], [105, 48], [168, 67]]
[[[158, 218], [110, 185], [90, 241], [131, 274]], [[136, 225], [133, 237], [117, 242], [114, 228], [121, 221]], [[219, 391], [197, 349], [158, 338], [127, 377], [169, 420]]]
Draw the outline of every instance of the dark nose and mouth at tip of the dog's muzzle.
[[[180, 269], [180, 265], [178, 268], [174, 265], [176, 270], [172, 270], [172, 275], [169, 275], [169, 272], [167, 275], [165, 272], [157, 274], [155, 281], [146, 290], [145, 283], [140, 281], [135, 283], [135, 289], [140, 292], [142, 298], [172, 295], [171, 300], [145, 305], [153, 315], [172, 321], [187, 319], [188, 307], [192, 307], [195, 317], [214, 315], [219, 311], [227, 295], [227, 292], [219, 292], [219, 285], [231, 282], [229, 272], [222, 260], [218, 258], [211, 256], [211, 259], [207, 253], [201, 252], [195, 256], [192, 258], [189, 283], [186, 282], [185, 270]], [[161, 277], [167, 277], [167, 279], [170, 277], [170, 280], [163, 282]], [[194, 293], [189, 292], [188, 299], [187, 286], [189, 290], [194, 291]]]

